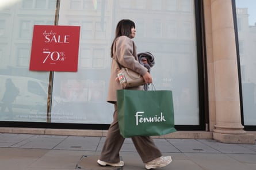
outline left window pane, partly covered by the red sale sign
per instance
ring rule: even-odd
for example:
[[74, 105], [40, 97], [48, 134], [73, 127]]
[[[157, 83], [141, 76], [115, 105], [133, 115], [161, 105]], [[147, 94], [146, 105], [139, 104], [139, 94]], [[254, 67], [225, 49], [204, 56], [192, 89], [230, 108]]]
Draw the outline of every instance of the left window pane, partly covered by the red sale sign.
[[49, 72], [28, 68], [33, 25], [54, 24], [56, 0], [15, 2], [0, 9], [0, 121], [46, 122]]

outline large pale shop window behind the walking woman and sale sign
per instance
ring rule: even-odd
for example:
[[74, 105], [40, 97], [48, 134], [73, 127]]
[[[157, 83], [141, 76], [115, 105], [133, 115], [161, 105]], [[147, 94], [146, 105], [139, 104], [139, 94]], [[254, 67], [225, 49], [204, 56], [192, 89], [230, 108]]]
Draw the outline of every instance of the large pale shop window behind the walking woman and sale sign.
[[[113, 107], [106, 103], [110, 46], [116, 23], [131, 18], [136, 23], [137, 52], [150, 51], [156, 57], [151, 71], [157, 90], [173, 90], [175, 123], [198, 125], [193, 2], [60, 1], [59, 24], [81, 26], [79, 68], [75, 73], [55, 72], [51, 121], [103, 124], [112, 121], [108, 115]], [[56, 0], [21, 0], [0, 10], [2, 121], [47, 121], [49, 72], [32, 72], [28, 66], [33, 25], [54, 25], [55, 7]], [[10, 90], [6, 90], [5, 84], [9, 79], [18, 94], [8, 94]], [[12, 99], [7, 106], [4, 96]]]

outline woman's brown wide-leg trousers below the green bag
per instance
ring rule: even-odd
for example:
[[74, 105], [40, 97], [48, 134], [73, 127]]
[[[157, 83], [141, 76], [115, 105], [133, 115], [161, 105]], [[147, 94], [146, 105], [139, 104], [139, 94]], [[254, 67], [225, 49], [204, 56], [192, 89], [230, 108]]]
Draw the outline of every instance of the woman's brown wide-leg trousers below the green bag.
[[[108, 163], [119, 163], [119, 151], [124, 143], [125, 138], [120, 135], [116, 103], [114, 104], [113, 116], [114, 120], [108, 129], [100, 160]], [[132, 142], [135, 145], [135, 148], [139, 153], [143, 163], [147, 163], [162, 156], [162, 153], [155, 146], [151, 137], [135, 136], [132, 137]]]

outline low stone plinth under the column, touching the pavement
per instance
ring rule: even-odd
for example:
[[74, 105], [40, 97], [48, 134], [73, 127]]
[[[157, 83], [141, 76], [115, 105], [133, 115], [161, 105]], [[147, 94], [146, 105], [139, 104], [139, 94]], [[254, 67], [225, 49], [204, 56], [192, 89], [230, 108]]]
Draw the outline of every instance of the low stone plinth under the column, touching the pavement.
[[254, 134], [224, 134], [213, 132], [213, 139], [229, 144], [255, 144]]

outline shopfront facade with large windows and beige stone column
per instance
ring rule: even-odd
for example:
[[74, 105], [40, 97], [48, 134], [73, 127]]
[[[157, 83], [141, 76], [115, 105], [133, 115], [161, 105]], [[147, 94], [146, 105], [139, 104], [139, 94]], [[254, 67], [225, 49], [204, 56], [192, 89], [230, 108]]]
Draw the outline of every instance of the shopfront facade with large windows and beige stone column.
[[[136, 24], [137, 51], [155, 56], [156, 90], [173, 91], [178, 132], [167, 137], [254, 142], [255, 26], [248, 7], [242, 0], [1, 2], [1, 131], [108, 129], [110, 46], [117, 22], [128, 18]], [[29, 71], [34, 25], [81, 26], [77, 72]]]

